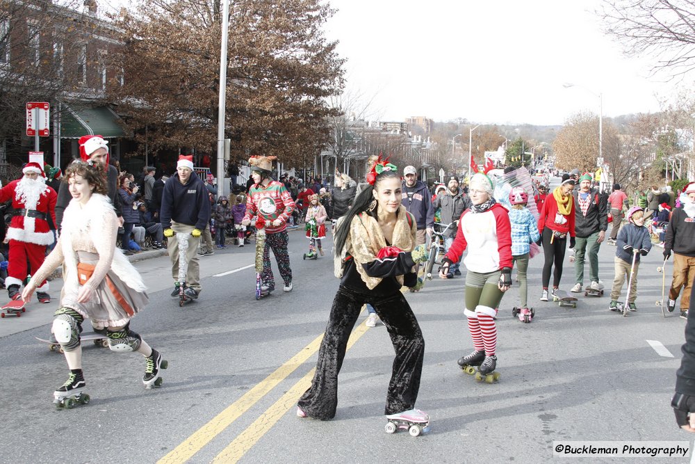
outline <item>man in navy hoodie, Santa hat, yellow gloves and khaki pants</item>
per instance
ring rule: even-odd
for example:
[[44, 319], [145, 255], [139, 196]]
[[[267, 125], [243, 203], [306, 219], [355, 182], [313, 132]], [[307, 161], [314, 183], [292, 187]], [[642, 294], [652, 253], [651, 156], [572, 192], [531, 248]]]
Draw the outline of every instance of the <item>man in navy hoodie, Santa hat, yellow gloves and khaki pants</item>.
[[183, 291], [190, 298], [200, 294], [200, 266], [196, 251], [200, 234], [205, 230], [210, 219], [210, 199], [203, 181], [193, 172], [193, 155], [179, 156], [177, 173], [164, 184], [162, 206], [159, 211], [164, 235], [168, 239], [167, 251], [172, 262], [174, 291], [179, 295], [179, 241], [174, 232], [190, 234], [186, 261], [186, 289]]

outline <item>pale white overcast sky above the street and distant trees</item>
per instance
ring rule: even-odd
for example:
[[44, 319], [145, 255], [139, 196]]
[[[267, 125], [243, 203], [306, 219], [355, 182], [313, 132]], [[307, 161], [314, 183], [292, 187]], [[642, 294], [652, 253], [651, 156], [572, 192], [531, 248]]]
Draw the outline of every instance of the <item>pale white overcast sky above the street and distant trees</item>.
[[[600, 0], [330, 0], [348, 87], [384, 120], [561, 125], [579, 111], [648, 113], [673, 84], [600, 30]], [[571, 82], [582, 87], [563, 88]]]

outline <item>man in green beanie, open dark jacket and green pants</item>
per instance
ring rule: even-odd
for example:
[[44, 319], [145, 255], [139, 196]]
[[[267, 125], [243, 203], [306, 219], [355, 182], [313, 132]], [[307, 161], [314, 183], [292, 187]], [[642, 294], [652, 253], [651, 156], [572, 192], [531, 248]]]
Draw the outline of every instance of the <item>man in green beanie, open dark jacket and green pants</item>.
[[593, 180], [591, 173], [580, 177], [579, 190], [574, 192], [576, 241], [574, 247], [574, 271], [576, 283], [571, 291], [580, 293], [584, 285], [584, 254], [589, 255], [589, 279], [587, 288], [600, 290], [598, 283], [598, 249], [606, 237], [608, 230], [607, 202], [601, 200], [596, 189], [591, 188]]

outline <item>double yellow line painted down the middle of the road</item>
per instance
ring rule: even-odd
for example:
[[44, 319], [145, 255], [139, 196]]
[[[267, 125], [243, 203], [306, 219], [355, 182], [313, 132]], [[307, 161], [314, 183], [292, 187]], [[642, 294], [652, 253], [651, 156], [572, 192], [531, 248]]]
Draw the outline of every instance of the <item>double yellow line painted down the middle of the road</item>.
[[[368, 327], [361, 323], [350, 335], [347, 341], [347, 349], [350, 349], [357, 340], [366, 333]], [[185, 463], [192, 458], [198, 451], [203, 449], [213, 438], [227, 429], [236, 419], [238, 419], [249, 408], [254, 406], [261, 398], [284, 381], [292, 374], [297, 367], [300, 367], [307, 359], [318, 351], [323, 335], [319, 335], [310, 344], [306, 345], [302, 351], [295, 354], [290, 360], [281, 365], [263, 381], [256, 384], [251, 390], [246, 392], [243, 397], [231, 403], [220, 414], [211, 419], [210, 422], [195, 431], [193, 435], [183, 440], [183, 442], [172, 449], [166, 456], [161, 458], [159, 464]], [[245, 431], [237, 437], [218, 454], [213, 463], [236, 463], [244, 454], [249, 451], [260, 440], [272, 426], [274, 426], [288, 410], [296, 405], [300, 395], [311, 385], [314, 369], [311, 369], [304, 377], [297, 381], [280, 399], [266, 409], [265, 412], [247, 427]]]

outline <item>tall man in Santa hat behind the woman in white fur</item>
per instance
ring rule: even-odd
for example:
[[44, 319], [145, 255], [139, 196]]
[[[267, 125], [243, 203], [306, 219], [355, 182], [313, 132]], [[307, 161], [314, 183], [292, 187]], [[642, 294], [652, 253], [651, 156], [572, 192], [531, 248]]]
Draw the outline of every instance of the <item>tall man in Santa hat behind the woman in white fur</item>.
[[[116, 200], [116, 195], [118, 194], [118, 170], [115, 166], [108, 163], [108, 142], [101, 136], [83, 136], [80, 138], [79, 144], [82, 161], [99, 164], [106, 171], [107, 196], [111, 200], [116, 216], [118, 216], [118, 223], [122, 226], [123, 216], [121, 214], [120, 201]], [[67, 208], [70, 200], [72, 200], [70, 189], [68, 189], [65, 182], [60, 182], [58, 200], [56, 201], [56, 227], [58, 227], [58, 231], [60, 231], [60, 225], [63, 223], [63, 211]]]

